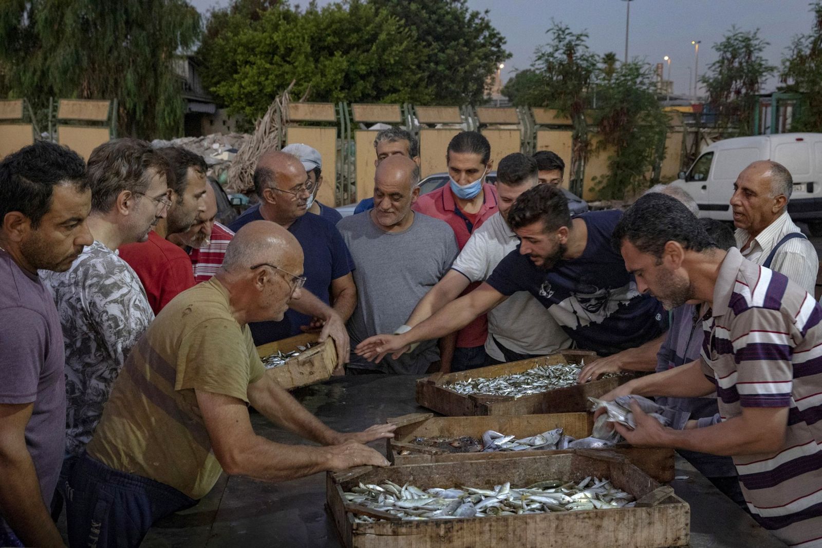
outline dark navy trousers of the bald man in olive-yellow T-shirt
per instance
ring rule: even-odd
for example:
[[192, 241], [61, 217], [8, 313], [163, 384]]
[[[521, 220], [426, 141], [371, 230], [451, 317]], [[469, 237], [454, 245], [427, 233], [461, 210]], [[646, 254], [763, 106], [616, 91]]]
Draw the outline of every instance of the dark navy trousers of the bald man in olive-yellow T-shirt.
[[71, 546], [139, 546], [159, 518], [196, 505], [164, 483], [120, 472], [84, 454], [69, 477], [66, 500]]

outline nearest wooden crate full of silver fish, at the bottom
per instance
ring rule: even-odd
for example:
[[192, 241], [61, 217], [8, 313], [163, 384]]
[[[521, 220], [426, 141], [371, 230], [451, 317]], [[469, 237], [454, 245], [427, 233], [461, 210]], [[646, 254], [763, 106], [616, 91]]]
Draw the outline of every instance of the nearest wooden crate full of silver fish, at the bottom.
[[593, 454], [329, 473], [345, 546], [687, 546], [690, 507], [625, 460]]

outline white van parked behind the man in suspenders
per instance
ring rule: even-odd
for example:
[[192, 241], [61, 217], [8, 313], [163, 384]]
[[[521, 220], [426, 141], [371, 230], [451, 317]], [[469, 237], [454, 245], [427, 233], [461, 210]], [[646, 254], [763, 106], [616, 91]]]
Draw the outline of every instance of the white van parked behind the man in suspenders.
[[705, 148], [672, 182], [700, 206], [700, 217], [733, 221], [731, 196], [739, 173], [756, 160], [774, 160], [791, 172], [787, 211], [794, 221], [822, 228], [822, 133], [783, 133], [724, 139]]

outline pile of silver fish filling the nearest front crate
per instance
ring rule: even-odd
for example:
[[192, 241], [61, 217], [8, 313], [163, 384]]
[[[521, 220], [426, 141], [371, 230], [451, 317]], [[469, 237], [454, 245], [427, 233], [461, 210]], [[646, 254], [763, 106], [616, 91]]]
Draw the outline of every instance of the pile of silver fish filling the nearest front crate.
[[[353, 505], [365, 506], [402, 519], [483, 518], [516, 514], [544, 514], [572, 510], [627, 508], [634, 497], [605, 478], [586, 477], [581, 482], [547, 480], [521, 488], [510, 482], [493, 489], [462, 486], [450, 489], [432, 488], [423, 491], [415, 486], [399, 486], [386, 481], [381, 485], [353, 487], [344, 493]], [[374, 523], [381, 519], [374, 514], [355, 514], [357, 523]]]

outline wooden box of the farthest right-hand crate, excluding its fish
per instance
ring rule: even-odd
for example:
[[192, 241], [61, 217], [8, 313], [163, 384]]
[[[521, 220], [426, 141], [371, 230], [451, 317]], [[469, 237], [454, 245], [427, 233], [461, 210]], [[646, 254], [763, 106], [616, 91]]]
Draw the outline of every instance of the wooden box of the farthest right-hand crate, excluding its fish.
[[501, 363], [487, 368], [471, 369], [456, 373], [434, 373], [417, 381], [417, 403], [437, 413], [449, 417], [464, 415], [528, 415], [534, 413], [575, 413], [587, 411], [591, 407], [589, 396], [598, 398], [613, 390], [632, 377], [625, 375], [581, 385], [556, 388], [520, 398], [501, 395], [462, 395], [445, 385], [472, 378], [501, 377], [509, 373], [521, 373], [538, 365], [558, 363], [591, 363], [597, 359], [593, 352], [565, 350], [541, 358], [524, 359], [519, 362]]

